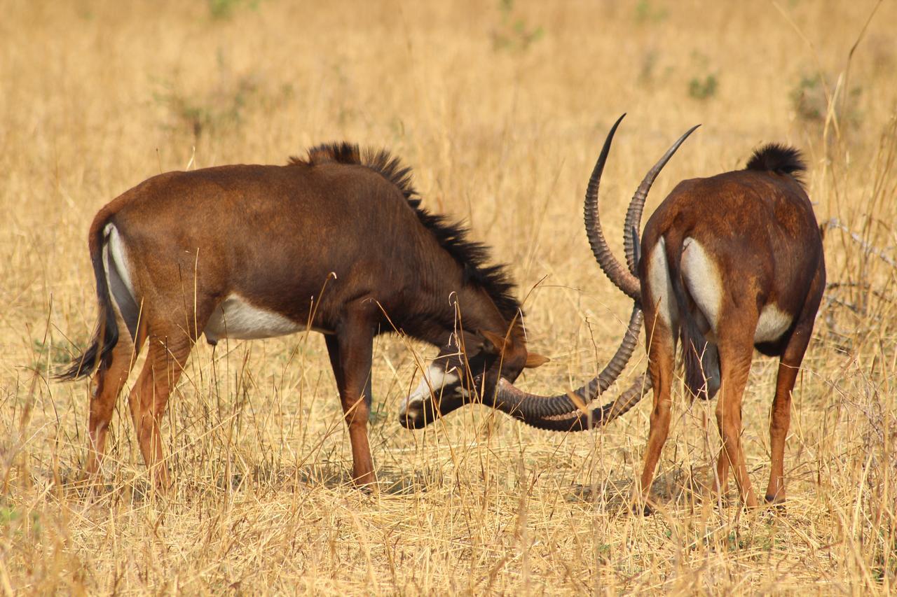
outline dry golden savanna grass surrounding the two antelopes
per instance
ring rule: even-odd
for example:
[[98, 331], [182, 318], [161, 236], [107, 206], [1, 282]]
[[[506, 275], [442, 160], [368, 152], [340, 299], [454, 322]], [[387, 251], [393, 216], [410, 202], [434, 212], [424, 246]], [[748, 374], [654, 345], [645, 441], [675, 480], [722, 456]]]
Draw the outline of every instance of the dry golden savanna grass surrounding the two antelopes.
[[[877, 11], [873, 14], [874, 9]], [[889, 593], [897, 583], [897, 4], [0, 3], [0, 589], [12, 593]], [[866, 27], [868, 22], [868, 26]], [[396, 422], [433, 350], [379, 339], [370, 427], [382, 489], [351, 454], [322, 338], [205, 344], [170, 401], [177, 483], [147, 482], [118, 404], [104, 485], [73, 482], [87, 384], [48, 372], [96, 316], [86, 231], [170, 169], [283, 163], [313, 143], [387, 146], [424, 205], [469, 222], [526, 297], [552, 361], [593, 376], [629, 305], [597, 269], [585, 183], [622, 112], [602, 215], [676, 136], [649, 210], [762, 142], [805, 152], [829, 280], [796, 388], [784, 512], [701, 499], [714, 404], [675, 401], [651, 517], [627, 508], [649, 399], [597, 433], [482, 407]], [[645, 367], [643, 351], [624, 375]], [[745, 394], [769, 474], [776, 362]], [[133, 378], [132, 378], [133, 381]]]

